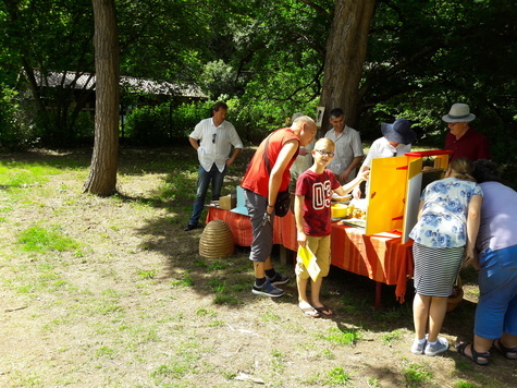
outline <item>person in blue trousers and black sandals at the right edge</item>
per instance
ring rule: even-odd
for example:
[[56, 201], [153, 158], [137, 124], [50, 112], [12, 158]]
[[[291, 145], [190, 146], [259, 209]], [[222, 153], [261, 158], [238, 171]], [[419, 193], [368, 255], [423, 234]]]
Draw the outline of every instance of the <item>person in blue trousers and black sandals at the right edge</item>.
[[473, 342], [460, 341], [456, 350], [476, 364], [487, 365], [491, 348], [517, 360], [517, 193], [501, 183], [493, 161], [475, 161], [473, 178], [483, 190], [479, 256], [471, 258], [479, 268], [480, 294]]

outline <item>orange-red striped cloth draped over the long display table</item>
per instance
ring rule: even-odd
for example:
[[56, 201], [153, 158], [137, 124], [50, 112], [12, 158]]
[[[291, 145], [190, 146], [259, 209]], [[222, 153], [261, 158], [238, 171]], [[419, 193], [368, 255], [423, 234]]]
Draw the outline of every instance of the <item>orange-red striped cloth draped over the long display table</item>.
[[[236, 245], [251, 245], [251, 223], [248, 216], [211, 207], [207, 222], [223, 220], [233, 233]], [[273, 243], [292, 251], [298, 250], [294, 215], [274, 218]], [[407, 277], [413, 276], [413, 241], [405, 244], [396, 233], [365, 235], [362, 228], [332, 223], [331, 255], [332, 265], [347, 271], [366, 276], [385, 284], [396, 284], [395, 295], [404, 302]]]

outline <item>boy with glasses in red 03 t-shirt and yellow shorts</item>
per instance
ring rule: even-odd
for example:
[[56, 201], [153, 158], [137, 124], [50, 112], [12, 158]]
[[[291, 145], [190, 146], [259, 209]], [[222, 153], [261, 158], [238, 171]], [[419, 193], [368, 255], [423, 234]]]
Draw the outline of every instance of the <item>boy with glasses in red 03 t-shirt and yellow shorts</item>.
[[322, 278], [330, 269], [330, 234], [331, 234], [331, 197], [335, 192], [346, 195], [361, 181], [366, 181], [369, 171], [359, 174], [352, 182], [342, 186], [331, 170], [325, 169], [334, 157], [334, 142], [322, 137], [315, 144], [311, 151], [315, 162], [301, 173], [296, 182], [295, 217], [298, 244], [307, 246], [317, 257], [321, 269], [316, 281], [311, 281], [311, 303], [307, 299], [309, 274], [301, 259], [296, 263], [296, 284], [298, 287], [298, 307], [311, 317], [331, 316], [334, 313], [320, 302]]

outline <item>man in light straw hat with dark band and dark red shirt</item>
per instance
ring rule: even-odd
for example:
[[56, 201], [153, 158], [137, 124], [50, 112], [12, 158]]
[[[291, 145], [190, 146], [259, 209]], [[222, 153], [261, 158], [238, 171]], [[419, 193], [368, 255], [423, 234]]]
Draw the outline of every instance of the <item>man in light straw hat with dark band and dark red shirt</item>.
[[453, 151], [450, 161], [461, 157], [471, 161], [491, 158], [487, 137], [469, 124], [473, 119], [476, 116], [470, 113], [467, 104], [454, 104], [448, 113], [442, 117], [450, 130], [443, 147]]

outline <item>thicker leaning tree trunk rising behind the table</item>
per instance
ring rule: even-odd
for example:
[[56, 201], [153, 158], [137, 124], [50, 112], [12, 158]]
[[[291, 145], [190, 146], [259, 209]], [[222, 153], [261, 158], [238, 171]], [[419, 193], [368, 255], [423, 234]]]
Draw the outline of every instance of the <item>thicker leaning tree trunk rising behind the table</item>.
[[[358, 89], [368, 47], [376, 0], [336, 0], [334, 21], [327, 40], [327, 58], [321, 93], [325, 107], [322, 129], [329, 128], [329, 111], [342, 108], [346, 124], [358, 120]], [[324, 132], [323, 132], [324, 133]]]

